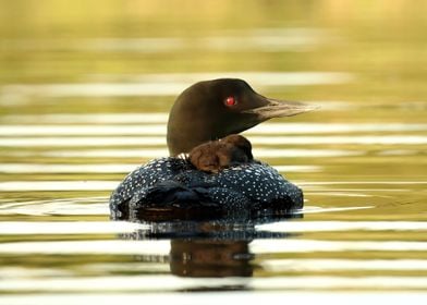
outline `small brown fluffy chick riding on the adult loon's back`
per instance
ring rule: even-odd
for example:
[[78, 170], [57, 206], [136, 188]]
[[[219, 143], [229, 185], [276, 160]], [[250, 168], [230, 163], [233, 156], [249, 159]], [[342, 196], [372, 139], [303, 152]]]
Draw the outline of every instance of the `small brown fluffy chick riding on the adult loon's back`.
[[239, 134], [209, 141], [192, 149], [188, 160], [196, 169], [210, 173], [254, 160], [251, 142]]

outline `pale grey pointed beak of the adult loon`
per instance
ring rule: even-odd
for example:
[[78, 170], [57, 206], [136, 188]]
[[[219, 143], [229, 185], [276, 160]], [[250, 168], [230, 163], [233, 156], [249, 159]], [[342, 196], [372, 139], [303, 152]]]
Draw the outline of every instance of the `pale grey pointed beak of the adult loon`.
[[272, 118], [292, 117], [300, 113], [318, 109], [318, 106], [307, 105], [298, 101], [284, 101], [263, 97], [264, 106], [244, 110], [244, 113], [256, 114], [259, 121], [266, 121]]

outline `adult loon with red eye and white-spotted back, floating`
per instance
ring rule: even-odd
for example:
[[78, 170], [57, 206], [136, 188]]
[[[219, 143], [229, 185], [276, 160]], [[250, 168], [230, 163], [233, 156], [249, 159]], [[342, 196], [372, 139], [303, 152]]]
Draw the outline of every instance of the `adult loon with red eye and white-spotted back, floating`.
[[[251, 217], [268, 209], [302, 208], [303, 192], [272, 167], [254, 160], [251, 143], [235, 134], [271, 118], [315, 108], [264, 97], [237, 78], [192, 85], [176, 98], [169, 113], [170, 156], [154, 159], [124, 178], [110, 196], [111, 219], [141, 220], [162, 213], [179, 219]], [[205, 164], [206, 170], [200, 156], [217, 154], [218, 142], [217, 148], [209, 142], [220, 138], [231, 145], [225, 149], [229, 160], [223, 166]], [[230, 159], [233, 151], [236, 156]]]

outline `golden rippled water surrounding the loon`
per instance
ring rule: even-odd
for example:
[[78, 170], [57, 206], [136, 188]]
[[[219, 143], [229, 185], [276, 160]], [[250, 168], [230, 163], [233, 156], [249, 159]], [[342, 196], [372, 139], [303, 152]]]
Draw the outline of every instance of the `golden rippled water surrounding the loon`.
[[[0, 1], [1, 303], [425, 298], [425, 3], [199, 5]], [[167, 155], [174, 97], [224, 76], [321, 106], [244, 133], [305, 208], [109, 221], [121, 179]]]

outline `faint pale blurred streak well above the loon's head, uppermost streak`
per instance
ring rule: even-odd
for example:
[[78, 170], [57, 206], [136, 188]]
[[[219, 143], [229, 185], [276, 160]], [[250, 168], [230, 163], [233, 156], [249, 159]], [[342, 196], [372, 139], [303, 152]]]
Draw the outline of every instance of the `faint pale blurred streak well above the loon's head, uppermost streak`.
[[242, 52], [306, 51], [330, 40], [325, 29], [307, 27], [255, 28], [207, 37], [99, 37], [86, 39], [8, 39], [4, 50], [175, 53], [191, 49]]

